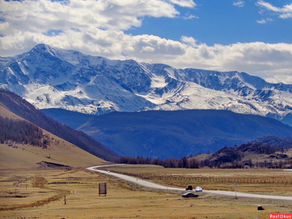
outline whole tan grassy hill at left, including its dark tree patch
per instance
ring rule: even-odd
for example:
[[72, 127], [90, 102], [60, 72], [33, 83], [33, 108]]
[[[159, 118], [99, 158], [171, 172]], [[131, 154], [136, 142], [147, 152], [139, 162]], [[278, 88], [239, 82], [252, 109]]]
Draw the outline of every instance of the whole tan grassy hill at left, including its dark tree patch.
[[38, 163], [65, 169], [110, 164], [17, 116], [1, 104], [0, 117], [1, 170], [36, 168]]

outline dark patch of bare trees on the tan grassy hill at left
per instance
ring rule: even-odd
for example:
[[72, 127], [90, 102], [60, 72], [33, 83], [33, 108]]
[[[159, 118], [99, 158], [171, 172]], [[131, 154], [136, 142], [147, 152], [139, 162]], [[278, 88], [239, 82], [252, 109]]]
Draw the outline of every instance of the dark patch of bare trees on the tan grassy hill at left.
[[50, 146], [50, 136], [38, 126], [25, 120], [0, 116], [0, 143], [8, 141], [42, 148]]

